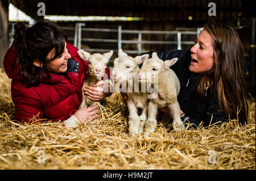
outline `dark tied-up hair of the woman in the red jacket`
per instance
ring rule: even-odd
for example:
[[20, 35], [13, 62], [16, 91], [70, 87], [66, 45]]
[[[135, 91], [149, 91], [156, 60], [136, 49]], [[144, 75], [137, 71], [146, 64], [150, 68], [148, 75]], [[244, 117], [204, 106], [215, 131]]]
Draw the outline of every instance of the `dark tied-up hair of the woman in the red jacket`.
[[[18, 65], [22, 83], [26, 87], [38, 86], [42, 76], [49, 78], [49, 61], [63, 53], [67, 35], [47, 19], [31, 27], [18, 22], [14, 29], [15, 61], [12, 70]], [[48, 60], [47, 55], [53, 48], [55, 56]], [[41, 67], [33, 64], [35, 60], [39, 60]]]

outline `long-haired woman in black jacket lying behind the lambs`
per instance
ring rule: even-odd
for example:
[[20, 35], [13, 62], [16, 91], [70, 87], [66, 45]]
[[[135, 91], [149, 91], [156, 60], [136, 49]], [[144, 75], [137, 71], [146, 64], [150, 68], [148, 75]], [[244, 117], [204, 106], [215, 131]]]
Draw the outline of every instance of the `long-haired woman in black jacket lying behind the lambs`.
[[[153, 52], [147, 52], [151, 54]], [[246, 123], [247, 101], [240, 38], [232, 27], [221, 23], [204, 26], [191, 49], [156, 52], [162, 60], [179, 60], [171, 66], [180, 81], [180, 117], [193, 127], [221, 124], [229, 119]], [[127, 95], [122, 93], [126, 100]], [[161, 111], [168, 113], [167, 108]]]

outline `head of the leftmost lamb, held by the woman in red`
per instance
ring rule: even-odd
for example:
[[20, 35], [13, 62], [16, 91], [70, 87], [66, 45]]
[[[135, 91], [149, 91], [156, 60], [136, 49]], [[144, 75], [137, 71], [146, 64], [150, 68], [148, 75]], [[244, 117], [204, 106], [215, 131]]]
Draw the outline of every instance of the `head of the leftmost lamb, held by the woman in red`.
[[108, 64], [110, 58], [113, 55], [113, 50], [108, 53], [100, 54], [94, 53], [90, 54], [84, 50], [79, 50], [79, 56], [86, 60], [89, 65], [89, 74], [95, 75], [96, 77], [102, 77], [105, 73], [106, 65]]

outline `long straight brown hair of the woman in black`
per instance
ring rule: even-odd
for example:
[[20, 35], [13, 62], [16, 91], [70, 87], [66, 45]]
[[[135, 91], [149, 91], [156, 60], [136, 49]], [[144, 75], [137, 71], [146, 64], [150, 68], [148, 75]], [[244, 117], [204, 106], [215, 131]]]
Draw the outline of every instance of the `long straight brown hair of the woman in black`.
[[217, 95], [226, 117], [247, 121], [248, 104], [243, 77], [244, 49], [237, 32], [222, 23], [207, 23], [204, 30], [213, 39], [214, 72], [204, 75], [197, 85], [197, 93], [204, 95], [208, 86]]

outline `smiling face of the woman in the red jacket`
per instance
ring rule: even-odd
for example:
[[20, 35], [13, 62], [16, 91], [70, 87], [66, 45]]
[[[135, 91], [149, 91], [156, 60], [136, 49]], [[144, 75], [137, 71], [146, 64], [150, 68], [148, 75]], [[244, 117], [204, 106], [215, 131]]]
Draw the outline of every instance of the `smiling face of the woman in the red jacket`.
[[[47, 54], [47, 59], [51, 60], [51, 58], [54, 56], [55, 56], [55, 48], [53, 48]], [[49, 61], [49, 67], [51, 71], [55, 73], [64, 73], [65, 71], [67, 71], [68, 69], [67, 62], [69, 58], [71, 58], [71, 54], [68, 53], [67, 43], [65, 43], [65, 48], [63, 53], [59, 57]]]

